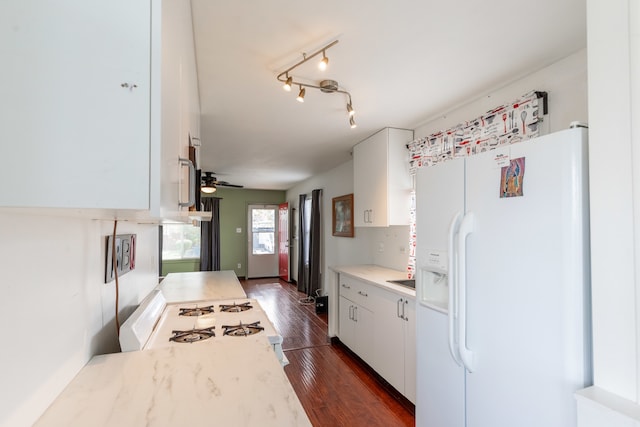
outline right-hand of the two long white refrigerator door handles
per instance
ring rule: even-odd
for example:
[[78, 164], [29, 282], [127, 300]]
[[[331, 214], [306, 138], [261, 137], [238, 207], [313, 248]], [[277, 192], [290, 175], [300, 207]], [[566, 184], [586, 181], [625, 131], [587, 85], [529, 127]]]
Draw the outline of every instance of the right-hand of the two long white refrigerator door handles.
[[458, 291], [458, 351], [460, 359], [467, 371], [473, 372], [474, 354], [467, 348], [467, 276], [466, 276], [466, 253], [467, 236], [475, 229], [475, 215], [473, 212], [467, 213], [458, 231], [458, 251], [457, 251], [457, 291]]

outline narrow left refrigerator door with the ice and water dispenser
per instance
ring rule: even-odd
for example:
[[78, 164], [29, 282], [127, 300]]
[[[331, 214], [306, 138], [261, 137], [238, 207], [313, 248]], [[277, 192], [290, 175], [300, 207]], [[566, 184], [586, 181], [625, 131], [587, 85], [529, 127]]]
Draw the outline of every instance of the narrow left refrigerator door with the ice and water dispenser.
[[[452, 218], [464, 211], [464, 160], [418, 170], [416, 181], [416, 425], [464, 427], [464, 370], [449, 351]], [[432, 272], [436, 270], [436, 272]]]

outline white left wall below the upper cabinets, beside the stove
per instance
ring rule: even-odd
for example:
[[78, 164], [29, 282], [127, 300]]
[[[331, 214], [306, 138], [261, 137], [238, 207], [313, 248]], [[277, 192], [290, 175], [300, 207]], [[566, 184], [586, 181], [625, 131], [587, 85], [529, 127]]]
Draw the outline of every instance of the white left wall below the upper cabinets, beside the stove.
[[[30, 426], [95, 354], [119, 351], [115, 285], [104, 283], [112, 221], [0, 212], [0, 425]], [[157, 226], [137, 234], [120, 278], [120, 321], [158, 281]]]

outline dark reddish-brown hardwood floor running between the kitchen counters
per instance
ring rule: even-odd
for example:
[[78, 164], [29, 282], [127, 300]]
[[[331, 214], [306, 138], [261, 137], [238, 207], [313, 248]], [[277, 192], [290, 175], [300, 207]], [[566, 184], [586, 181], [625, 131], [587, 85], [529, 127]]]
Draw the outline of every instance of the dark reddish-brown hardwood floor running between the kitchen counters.
[[323, 426], [413, 426], [412, 407], [341, 344], [327, 339], [327, 315], [279, 279], [241, 279], [283, 336], [284, 368], [311, 423]]

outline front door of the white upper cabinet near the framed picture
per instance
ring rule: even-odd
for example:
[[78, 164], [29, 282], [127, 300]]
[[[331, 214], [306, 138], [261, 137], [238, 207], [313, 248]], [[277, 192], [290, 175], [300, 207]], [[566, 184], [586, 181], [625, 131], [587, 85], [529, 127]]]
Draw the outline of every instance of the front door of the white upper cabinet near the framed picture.
[[353, 149], [356, 227], [387, 225], [387, 138], [383, 129]]

